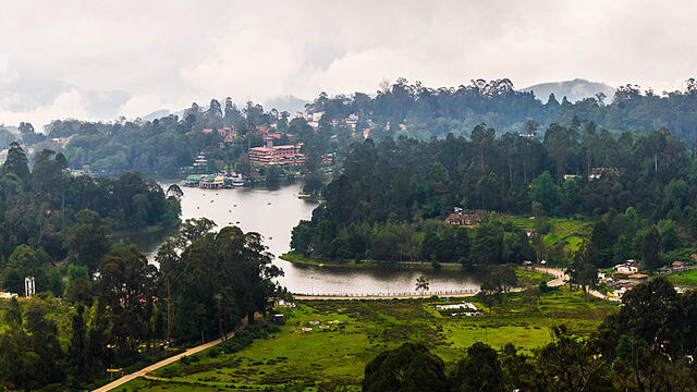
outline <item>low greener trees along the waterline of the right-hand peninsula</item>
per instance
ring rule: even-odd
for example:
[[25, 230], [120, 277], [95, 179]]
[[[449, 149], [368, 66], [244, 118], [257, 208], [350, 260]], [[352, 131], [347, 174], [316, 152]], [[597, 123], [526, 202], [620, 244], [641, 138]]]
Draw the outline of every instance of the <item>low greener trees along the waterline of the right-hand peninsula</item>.
[[317, 228], [301, 221], [291, 247], [305, 256], [331, 260], [420, 261], [474, 266], [522, 264], [533, 257], [527, 234], [496, 213], [474, 229], [428, 219], [367, 222], [340, 230], [329, 221]]

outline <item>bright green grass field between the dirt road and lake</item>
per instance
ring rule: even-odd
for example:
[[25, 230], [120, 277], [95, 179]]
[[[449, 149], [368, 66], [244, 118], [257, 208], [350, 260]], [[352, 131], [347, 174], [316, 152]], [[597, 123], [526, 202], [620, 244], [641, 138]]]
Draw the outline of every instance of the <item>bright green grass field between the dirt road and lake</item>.
[[[464, 301], [485, 310], [474, 297]], [[492, 316], [488, 309], [479, 316], [443, 316], [433, 308], [437, 304], [447, 302], [301, 302], [294, 309], [280, 310], [286, 321], [271, 336], [234, 354], [198, 354], [195, 362], [179, 362], [151, 373], [156, 380], [138, 379], [119, 391], [357, 391], [365, 365], [404, 342], [424, 342], [453, 366], [475, 342], [497, 350], [511, 342], [530, 352], [550, 341], [552, 326], [564, 323], [587, 334], [616, 309], [612, 303], [585, 303], [579, 293], [570, 297], [564, 291], [545, 294], [533, 304], [523, 294], [510, 293]]]

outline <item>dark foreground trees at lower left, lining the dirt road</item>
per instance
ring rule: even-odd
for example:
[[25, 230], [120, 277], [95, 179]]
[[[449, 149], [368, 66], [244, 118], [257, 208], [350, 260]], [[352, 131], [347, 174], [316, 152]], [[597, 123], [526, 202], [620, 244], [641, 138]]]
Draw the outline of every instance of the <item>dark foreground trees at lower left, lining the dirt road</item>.
[[91, 389], [108, 379], [107, 368], [157, 357], [162, 345], [209, 341], [253, 323], [268, 310], [281, 271], [259, 234], [213, 226], [184, 222], [158, 250], [159, 268], [127, 242], [111, 245], [94, 275], [69, 262], [68, 287], [57, 295], [70, 304], [62, 332], [47, 317], [52, 295], [5, 302], [0, 389]]

